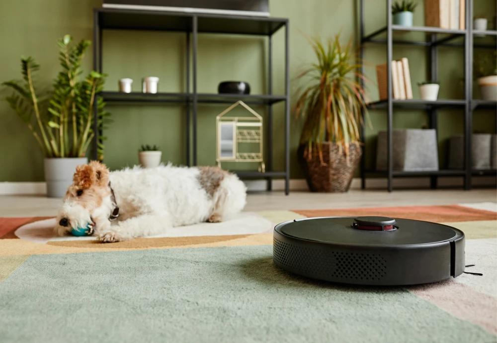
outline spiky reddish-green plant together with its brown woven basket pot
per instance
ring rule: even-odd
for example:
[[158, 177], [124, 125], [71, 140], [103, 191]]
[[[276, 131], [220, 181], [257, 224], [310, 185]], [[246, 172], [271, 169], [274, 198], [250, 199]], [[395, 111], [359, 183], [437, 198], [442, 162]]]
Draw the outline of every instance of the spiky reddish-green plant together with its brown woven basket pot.
[[[361, 159], [359, 127], [366, 112], [364, 79], [353, 62], [351, 43], [342, 47], [339, 36], [327, 44], [311, 40], [317, 61], [299, 75], [295, 112], [303, 117], [298, 158], [309, 189], [347, 191]], [[364, 79], [365, 80], [365, 79]]]

